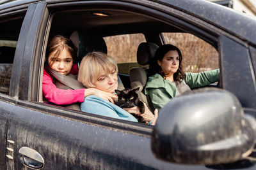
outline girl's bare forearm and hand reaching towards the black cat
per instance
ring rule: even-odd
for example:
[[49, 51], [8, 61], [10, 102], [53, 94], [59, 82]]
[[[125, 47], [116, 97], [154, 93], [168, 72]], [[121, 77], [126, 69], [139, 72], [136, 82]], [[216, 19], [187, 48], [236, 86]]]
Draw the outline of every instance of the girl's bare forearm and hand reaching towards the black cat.
[[109, 92], [104, 92], [99, 89], [95, 88], [88, 88], [84, 90], [84, 97], [90, 96], [90, 95], [95, 95], [98, 96], [106, 101], [110, 101], [111, 103], [114, 103], [116, 99], [118, 98], [115, 94], [109, 93]]

